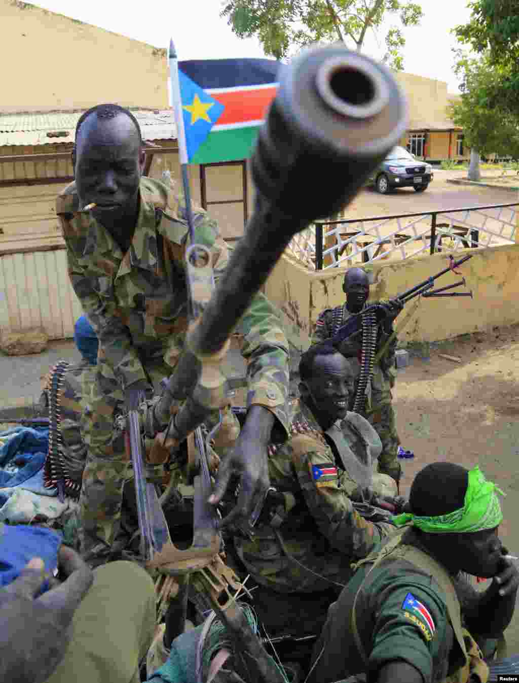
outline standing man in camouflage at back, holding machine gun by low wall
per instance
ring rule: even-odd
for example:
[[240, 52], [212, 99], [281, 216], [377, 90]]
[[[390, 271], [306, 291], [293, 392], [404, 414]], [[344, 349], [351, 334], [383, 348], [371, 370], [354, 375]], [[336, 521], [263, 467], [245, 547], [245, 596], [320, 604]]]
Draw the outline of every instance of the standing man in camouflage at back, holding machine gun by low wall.
[[[336, 308], [327, 308], [317, 318], [312, 344], [318, 344], [324, 339], [334, 335], [340, 326], [346, 324], [351, 316], [356, 315], [366, 307], [366, 301], [370, 294], [370, 282], [368, 275], [361, 268], [350, 268], [344, 275], [342, 291], [346, 294], [346, 302]], [[370, 302], [372, 303], [372, 302]], [[391, 304], [395, 304], [394, 307]], [[398, 315], [402, 306], [397, 302], [389, 302], [387, 322], [379, 326], [376, 352], [384, 346], [387, 339], [393, 333], [391, 324]], [[398, 483], [402, 475], [402, 466], [397, 460], [400, 438], [396, 431], [395, 410], [392, 404], [393, 396], [391, 389], [395, 385], [395, 351], [396, 336], [389, 342], [389, 346], [383, 357], [373, 368], [373, 376], [370, 387], [370, 406], [366, 405], [365, 417], [376, 429], [382, 441], [382, 452], [379, 456], [379, 472], [388, 474]], [[357, 359], [355, 367], [356, 375], [360, 373], [360, 354], [362, 345], [362, 332], [354, 333], [340, 346], [340, 351], [346, 358]]]

